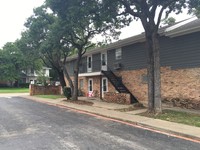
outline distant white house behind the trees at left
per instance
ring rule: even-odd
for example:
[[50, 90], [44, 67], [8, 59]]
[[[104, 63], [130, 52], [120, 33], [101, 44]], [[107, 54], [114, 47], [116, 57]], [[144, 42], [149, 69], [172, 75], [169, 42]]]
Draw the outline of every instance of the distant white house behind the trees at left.
[[37, 83], [38, 76], [48, 77], [50, 80], [49, 72], [51, 68], [42, 67], [40, 71], [35, 71], [34, 69], [27, 69], [26, 71], [22, 71], [21, 83]]

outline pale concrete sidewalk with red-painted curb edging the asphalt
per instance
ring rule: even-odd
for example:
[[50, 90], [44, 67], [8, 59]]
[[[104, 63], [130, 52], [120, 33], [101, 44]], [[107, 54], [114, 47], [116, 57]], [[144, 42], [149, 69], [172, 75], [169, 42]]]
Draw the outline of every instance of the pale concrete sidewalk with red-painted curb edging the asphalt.
[[[112, 120], [112, 121], [115, 121], [115, 122], [120, 122], [120, 123], [127, 124], [127, 125], [130, 125], [130, 126], [142, 128], [142, 129], [145, 129], [145, 130], [149, 130], [149, 131], [165, 134], [165, 135], [168, 135], [168, 136], [177, 137], [177, 138], [189, 140], [189, 141], [192, 141], [192, 142], [200, 143], [200, 136], [195, 136], [193, 134], [187, 134], [187, 133], [183, 133], [183, 132], [174, 131], [174, 130], [171, 130], [171, 129], [165, 129], [165, 128], [162, 128], [162, 127], [154, 126], [154, 125], [152, 125], [151, 122], [153, 122], [153, 124], [155, 124], [156, 122], [162, 122], [162, 123], [166, 122], [168, 124], [169, 123], [172, 124], [172, 126], [176, 125], [177, 123], [172, 123], [172, 122], [168, 122], [168, 121], [152, 119], [152, 118], [147, 118], [147, 117], [142, 117], [142, 116], [136, 116], [136, 115], [126, 114], [126, 113], [123, 113], [123, 112], [117, 112], [117, 111], [112, 111], [112, 110], [106, 110], [106, 111], [109, 111], [110, 113], [104, 113], [105, 112], [104, 108], [95, 108], [95, 109], [102, 109], [102, 111], [104, 111], [104, 112], [100, 113], [100, 112], [94, 111], [95, 109], [93, 109], [93, 110], [91, 109], [91, 108], [94, 108], [94, 106], [87, 106], [84, 109], [84, 108], [81, 108], [80, 106], [78, 106], [78, 104], [71, 104], [71, 105], [70, 104], [62, 104], [62, 103], [53, 102], [54, 100], [50, 101], [48, 99], [36, 98], [36, 97], [31, 97], [31, 96], [20, 96], [20, 97], [25, 98], [25, 99], [29, 99], [29, 100], [33, 100], [33, 101], [36, 101], [36, 102], [56, 106], [56, 107], [67, 108], [67, 109], [70, 109], [70, 110], [75, 111], [75, 112], [80, 112], [80, 113], [88, 114], [88, 115], [95, 116], [95, 117], [100, 116], [104, 119]], [[77, 107], [76, 107], [76, 105], [77, 105]], [[87, 108], [90, 108], [90, 109], [87, 109]], [[121, 117], [112, 116], [113, 112], [118, 113], [118, 114], [125, 114], [126, 116], [128, 115], [129, 117], [134, 116], [134, 118], [136, 117], [136, 119], [133, 120], [133, 119], [127, 119], [126, 117], [121, 118]], [[137, 118], [138, 118], [138, 120], [137, 120]], [[182, 125], [182, 124], [177, 124], [177, 125], [179, 125], [179, 126], [181, 125], [181, 126], [184, 126], [186, 128], [195, 128], [195, 129], [200, 130], [197, 127], [192, 127], [192, 126], [187, 126], [187, 125]]]

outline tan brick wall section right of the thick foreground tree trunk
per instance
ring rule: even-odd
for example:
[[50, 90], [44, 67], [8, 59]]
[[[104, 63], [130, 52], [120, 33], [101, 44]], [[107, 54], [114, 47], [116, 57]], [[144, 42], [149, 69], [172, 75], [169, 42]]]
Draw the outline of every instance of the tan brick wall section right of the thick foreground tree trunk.
[[161, 70], [163, 98], [181, 98], [200, 101], [200, 68]]

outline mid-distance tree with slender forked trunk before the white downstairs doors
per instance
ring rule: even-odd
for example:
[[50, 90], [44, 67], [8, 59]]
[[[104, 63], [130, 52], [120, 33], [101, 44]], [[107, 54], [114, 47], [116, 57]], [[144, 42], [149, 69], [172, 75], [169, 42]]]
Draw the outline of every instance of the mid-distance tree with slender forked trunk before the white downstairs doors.
[[[115, 28], [120, 28], [118, 22], [102, 12], [102, 5], [94, 0], [46, 0], [47, 6], [60, 18], [65, 37], [63, 41], [71, 44], [77, 51], [74, 69], [74, 83], [67, 70], [66, 77], [72, 89], [72, 100], [78, 97], [78, 73], [82, 56], [93, 46], [91, 39], [97, 34], [106, 35], [110, 30], [113, 37], [117, 35]], [[110, 22], [110, 23], [107, 23]], [[112, 22], [112, 23], [111, 23]]]

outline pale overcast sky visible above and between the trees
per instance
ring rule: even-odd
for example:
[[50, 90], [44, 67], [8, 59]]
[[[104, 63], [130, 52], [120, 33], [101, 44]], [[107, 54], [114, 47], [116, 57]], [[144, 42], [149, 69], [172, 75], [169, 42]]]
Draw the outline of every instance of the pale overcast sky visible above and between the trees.
[[[41, 6], [45, 0], [1, 0], [0, 1], [0, 48], [7, 42], [14, 42], [20, 38], [25, 29], [26, 19], [33, 14], [33, 9]], [[171, 14], [177, 21], [190, 17], [186, 14]], [[143, 32], [140, 21], [133, 22], [122, 29], [119, 39], [124, 39]]]

